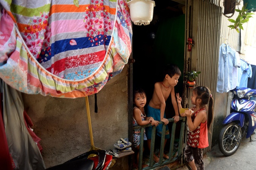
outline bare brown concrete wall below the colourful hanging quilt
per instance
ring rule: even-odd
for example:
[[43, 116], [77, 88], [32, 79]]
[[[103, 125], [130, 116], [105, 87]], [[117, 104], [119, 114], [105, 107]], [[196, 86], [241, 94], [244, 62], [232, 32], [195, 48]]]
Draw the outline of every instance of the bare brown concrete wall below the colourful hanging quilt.
[[[94, 113], [94, 95], [89, 96], [94, 145], [113, 149], [121, 137], [128, 137], [127, 67], [97, 93], [98, 113]], [[24, 108], [32, 119], [35, 134], [42, 140], [46, 167], [64, 163], [91, 148], [85, 98], [54, 98], [22, 94]], [[126, 166], [127, 168], [127, 166]]]

